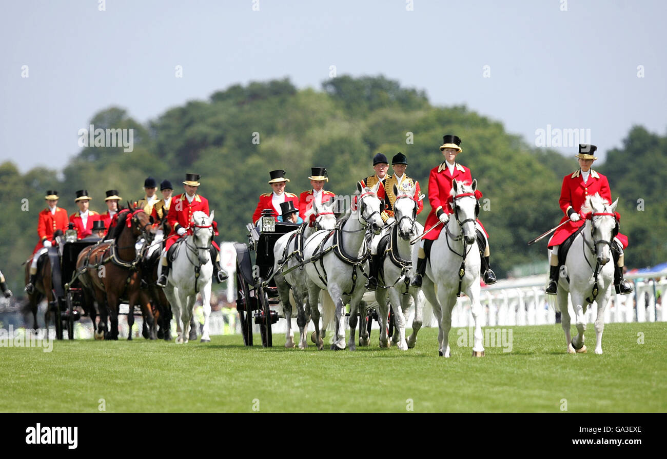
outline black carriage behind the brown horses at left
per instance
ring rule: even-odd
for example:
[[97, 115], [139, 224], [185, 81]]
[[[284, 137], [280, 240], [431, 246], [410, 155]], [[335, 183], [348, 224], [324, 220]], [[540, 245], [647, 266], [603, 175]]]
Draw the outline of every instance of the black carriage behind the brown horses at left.
[[[65, 330], [67, 338], [74, 339], [74, 322], [81, 318], [85, 297], [81, 282], [77, 279], [77, 258], [83, 249], [97, 244], [94, 240], [65, 239], [61, 248], [49, 248], [51, 275], [55, 301], [50, 305], [55, 318], [55, 336], [62, 340]], [[62, 249], [62, 253], [59, 250]]]

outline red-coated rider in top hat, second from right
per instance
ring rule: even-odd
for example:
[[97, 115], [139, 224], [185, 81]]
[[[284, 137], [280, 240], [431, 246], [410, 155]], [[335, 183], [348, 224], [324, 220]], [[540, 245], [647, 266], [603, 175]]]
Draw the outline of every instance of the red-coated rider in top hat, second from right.
[[[440, 165], [437, 167], [431, 169], [431, 173], [428, 178], [428, 200], [431, 204], [431, 211], [426, 218], [424, 232], [426, 233], [439, 222], [442, 222], [442, 225], [424, 236], [420, 242], [416, 275], [411, 283], [411, 285], [415, 287], [422, 286], [422, 278], [424, 277], [424, 273], [426, 273], [426, 256], [430, 254], [431, 245], [435, 240], [438, 239], [442, 228], [450, 219], [450, 213], [452, 213], [452, 209], [448, 205], [448, 200], [450, 199], [450, 192], [452, 191], [452, 180], [456, 179], [458, 181], [464, 181], [468, 185], [472, 183], [472, 174], [470, 173], [470, 169], [456, 162], [456, 156], [463, 151], [461, 148], [461, 143], [462, 141], [460, 137], [456, 135], [445, 135], [443, 137], [442, 145], [440, 145], [440, 151], [442, 151], [442, 155], [444, 155], [445, 160], [442, 161], [442, 163], [440, 163]], [[480, 199], [480, 197], [482, 197], [481, 191], [477, 190], [476, 195], [477, 199]], [[491, 270], [489, 261], [490, 250], [488, 234], [486, 234], [486, 230], [484, 230], [484, 226], [482, 226], [482, 223], [479, 219], [477, 220], [475, 226], [478, 230], [478, 234], [481, 233], [486, 240], [486, 248], [484, 249], [484, 253], [480, 254], [482, 261], [482, 278], [484, 280], [484, 284], [495, 284], [496, 274]]]

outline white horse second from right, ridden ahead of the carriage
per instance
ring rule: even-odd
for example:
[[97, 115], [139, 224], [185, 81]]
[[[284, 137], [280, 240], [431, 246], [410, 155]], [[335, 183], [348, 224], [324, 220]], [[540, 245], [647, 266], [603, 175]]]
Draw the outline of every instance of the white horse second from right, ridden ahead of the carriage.
[[[475, 196], [477, 180], [472, 185], [452, 180], [452, 213], [438, 239], [431, 246], [430, 260], [422, 292], [433, 307], [438, 319], [440, 356], [450, 357], [448, 343], [452, 328], [452, 309], [458, 293], [470, 298], [472, 318], [475, 323], [472, 355], [484, 356], [482, 344], [482, 304], [480, 303], [480, 250], [477, 245], [475, 222], [478, 201]], [[419, 246], [412, 251], [412, 264], [416, 266]], [[463, 266], [462, 266], [463, 264]], [[463, 272], [461, 269], [463, 268]], [[436, 296], [435, 286], [438, 287]]]

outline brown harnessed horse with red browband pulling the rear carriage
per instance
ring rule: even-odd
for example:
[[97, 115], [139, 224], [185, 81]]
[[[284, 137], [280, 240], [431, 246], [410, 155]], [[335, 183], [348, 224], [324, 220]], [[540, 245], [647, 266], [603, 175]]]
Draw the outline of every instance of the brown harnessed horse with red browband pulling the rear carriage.
[[[134, 306], [139, 304], [144, 321], [150, 330], [151, 340], [155, 339], [155, 322], [149, 304], [149, 298], [140, 289], [141, 268], [135, 244], [139, 236], [150, 242], [152, 218], [138, 209], [131, 211], [124, 209], [118, 213], [118, 222], [113, 236], [114, 240], [103, 242], [97, 246], [85, 248], [79, 254], [77, 270], [83, 272], [81, 283], [95, 294], [97, 304], [105, 304], [111, 319], [111, 330], [108, 338], [118, 339], [118, 311], [121, 298], [127, 298], [129, 312], [127, 325], [129, 326], [128, 340], [132, 339], [134, 324]], [[101, 308], [100, 308], [101, 309]], [[106, 326], [103, 314], [98, 331], [102, 332]], [[96, 332], [97, 337], [97, 332]]]

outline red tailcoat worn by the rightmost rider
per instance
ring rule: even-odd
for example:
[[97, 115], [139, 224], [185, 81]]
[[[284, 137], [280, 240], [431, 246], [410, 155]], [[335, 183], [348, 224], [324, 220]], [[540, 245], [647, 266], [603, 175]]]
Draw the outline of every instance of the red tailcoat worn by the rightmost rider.
[[[580, 212], [582, 205], [586, 202], [586, 197], [595, 193], [600, 193], [600, 197], [606, 199], [609, 203], [612, 202], [612, 191], [609, 188], [609, 181], [601, 173], [590, 169], [590, 175], [588, 175], [586, 183], [584, 183], [580, 169], [563, 177], [558, 205], [560, 205], [560, 209], [565, 213], [565, 216], [562, 217], [560, 223], [570, 219], [568, 217], [568, 210], [570, 208]], [[549, 240], [548, 246], [551, 248], [562, 244], [572, 233], [582, 227], [584, 223], [584, 219], [580, 219], [576, 222], [570, 221], [558, 228]], [[623, 244], [623, 248], [628, 247], [628, 236], [619, 233], [616, 235], [616, 238]]]

